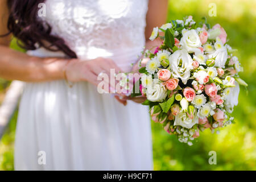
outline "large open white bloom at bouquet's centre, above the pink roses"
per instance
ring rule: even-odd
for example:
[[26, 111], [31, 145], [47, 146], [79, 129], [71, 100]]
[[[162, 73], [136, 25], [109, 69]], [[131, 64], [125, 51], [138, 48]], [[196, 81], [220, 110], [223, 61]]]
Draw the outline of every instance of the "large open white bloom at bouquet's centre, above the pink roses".
[[191, 56], [184, 49], [175, 51], [170, 56], [170, 64], [172, 69], [172, 75], [176, 78], [180, 78], [184, 84], [187, 84], [187, 80], [190, 77], [190, 70], [193, 68], [193, 60]]

